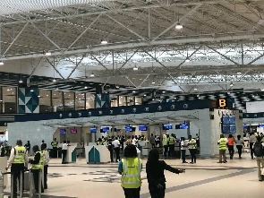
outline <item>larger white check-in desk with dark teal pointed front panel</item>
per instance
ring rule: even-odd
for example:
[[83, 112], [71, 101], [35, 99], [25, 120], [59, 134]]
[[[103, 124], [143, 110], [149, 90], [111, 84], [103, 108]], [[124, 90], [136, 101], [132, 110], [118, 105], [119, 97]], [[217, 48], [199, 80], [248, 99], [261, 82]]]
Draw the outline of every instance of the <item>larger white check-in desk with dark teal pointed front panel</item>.
[[110, 162], [110, 153], [105, 145], [89, 143], [85, 147], [85, 158], [87, 163], [108, 163]]

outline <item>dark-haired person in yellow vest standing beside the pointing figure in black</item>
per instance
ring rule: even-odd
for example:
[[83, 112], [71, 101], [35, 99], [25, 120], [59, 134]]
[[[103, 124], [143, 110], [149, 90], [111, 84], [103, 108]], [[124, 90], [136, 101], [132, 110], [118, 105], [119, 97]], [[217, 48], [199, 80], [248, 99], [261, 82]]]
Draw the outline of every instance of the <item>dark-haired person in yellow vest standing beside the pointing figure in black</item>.
[[123, 152], [124, 159], [119, 162], [118, 173], [126, 198], [140, 198], [142, 162], [138, 158], [136, 146], [129, 144]]

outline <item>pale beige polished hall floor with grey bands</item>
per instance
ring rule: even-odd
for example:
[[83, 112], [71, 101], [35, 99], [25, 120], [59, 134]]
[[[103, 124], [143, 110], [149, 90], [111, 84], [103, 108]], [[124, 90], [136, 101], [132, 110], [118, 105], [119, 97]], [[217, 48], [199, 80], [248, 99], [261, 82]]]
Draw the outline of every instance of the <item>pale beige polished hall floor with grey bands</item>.
[[[59, 162], [58, 159], [50, 161], [48, 189], [42, 197], [124, 197], [117, 164], [87, 165], [80, 159], [75, 164]], [[217, 159], [200, 159], [193, 165], [183, 165], [179, 159], [166, 159], [166, 163], [175, 168], [186, 168], [186, 173], [179, 176], [166, 172], [166, 198], [264, 197], [264, 182], [258, 181], [253, 159], [233, 159], [226, 164], [217, 164]], [[141, 176], [141, 198], [149, 198], [145, 169]]]

